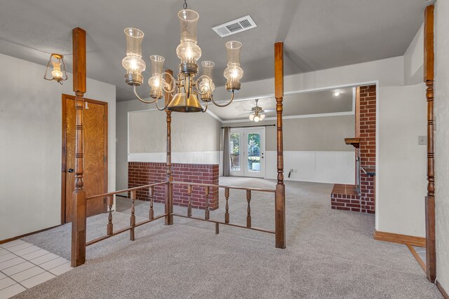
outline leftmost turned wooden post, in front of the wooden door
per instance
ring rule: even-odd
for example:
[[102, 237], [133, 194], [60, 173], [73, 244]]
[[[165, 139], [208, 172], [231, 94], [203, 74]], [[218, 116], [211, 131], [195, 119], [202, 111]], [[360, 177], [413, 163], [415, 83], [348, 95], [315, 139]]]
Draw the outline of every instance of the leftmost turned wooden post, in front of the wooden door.
[[86, 92], [86, 32], [72, 30], [73, 91], [75, 92], [75, 190], [72, 199], [72, 267], [86, 263], [86, 192], [83, 186], [83, 107]]

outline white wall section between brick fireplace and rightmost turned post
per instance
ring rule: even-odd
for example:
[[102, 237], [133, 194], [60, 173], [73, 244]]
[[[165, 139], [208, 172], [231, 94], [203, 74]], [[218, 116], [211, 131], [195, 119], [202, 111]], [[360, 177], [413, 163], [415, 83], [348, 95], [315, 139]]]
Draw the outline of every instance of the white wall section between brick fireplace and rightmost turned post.
[[379, 105], [379, 202], [376, 229], [425, 237], [427, 135], [424, 83], [382, 89]]

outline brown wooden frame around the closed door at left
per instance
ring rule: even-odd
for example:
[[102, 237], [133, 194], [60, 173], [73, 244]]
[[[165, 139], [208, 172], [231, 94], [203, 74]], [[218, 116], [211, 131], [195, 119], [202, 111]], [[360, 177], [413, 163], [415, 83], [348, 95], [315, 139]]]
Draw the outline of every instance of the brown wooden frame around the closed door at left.
[[[65, 224], [65, 174], [67, 172], [67, 165], [66, 165], [66, 159], [67, 159], [67, 149], [66, 149], [66, 142], [67, 142], [67, 136], [65, 134], [66, 132], [66, 99], [72, 99], [75, 100], [75, 96], [74, 95], [66, 95], [66, 94], [62, 94], [62, 118], [61, 118], [61, 123], [62, 123], [62, 163], [61, 163], [61, 224]], [[107, 155], [107, 137], [109, 135], [109, 132], [107, 130], [107, 120], [108, 120], [108, 113], [107, 113], [107, 102], [101, 102], [101, 101], [97, 101], [96, 99], [86, 99], [84, 98], [84, 102], [87, 103], [92, 103], [92, 104], [100, 104], [105, 106], [105, 193], [107, 193], [107, 178], [108, 178], [108, 167], [107, 165], [109, 164], [109, 157]], [[105, 202], [105, 209], [106, 209], [106, 202]]]

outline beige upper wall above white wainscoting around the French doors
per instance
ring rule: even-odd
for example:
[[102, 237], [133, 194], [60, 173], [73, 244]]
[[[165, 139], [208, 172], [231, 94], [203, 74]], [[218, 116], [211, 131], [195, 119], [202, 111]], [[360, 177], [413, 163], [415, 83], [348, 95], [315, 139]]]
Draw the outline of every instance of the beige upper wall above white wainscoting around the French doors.
[[[354, 137], [354, 115], [283, 120], [284, 151], [354, 151], [344, 144]], [[223, 126], [272, 125], [275, 120], [260, 123], [225, 123]], [[265, 128], [265, 151], [276, 151], [276, 127]]]

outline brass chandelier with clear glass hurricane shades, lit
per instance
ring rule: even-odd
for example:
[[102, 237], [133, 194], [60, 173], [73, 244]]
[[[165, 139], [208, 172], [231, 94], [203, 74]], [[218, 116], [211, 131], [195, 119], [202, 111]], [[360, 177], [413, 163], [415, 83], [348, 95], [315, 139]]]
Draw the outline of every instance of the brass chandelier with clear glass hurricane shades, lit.
[[[177, 112], [206, 112], [208, 103], [212, 102], [215, 106], [225, 107], [232, 103], [234, 93], [239, 92], [243, 77], [243, 69], [240, 67], [240, 48], [239, 41], [229, 41], [227, 48], [227, 68], [223, 75], [227, 79], [226, 90], [232, 92], [231, 99], [226, 104], [217, 104], [213, 99], [212, 71], [214, 63], [203, 61], [201, 63], [202, 74], [199, 74], [199, 67], [196, 62], [201, 57], [201, 48], [196, 44], [196, 23], [199, 14], [196, 11], [187, 9], [187, 3], [184, 3], [184, 9], [177, 14], [180, 19], [181, 41], [176, 48], [176, 55], [181, 60], [177, 79], [171, 74], [163, 72], [163, 62], [165, 58], [160, 55], [150, 57], [152, 64], [152, 77], [148, 84], [151, 88], [149, 96], [152, 100], [145, 100], [139, 97], [136, 92], [136, 86], [143, 83], [142, 71], [145, 71], [146, 64], [142, 60], [142, 39], [144, 33], [135, 28], [126, 28], [126, 57], [122, 60], [123, 68], [126, 69], [125, 82], [133, 86], [135, 96], [144, 103], [156, 103], [156, 108], [160, 111], [169, 110]], [[170, 78], [168, 83], [165, 78]], [[173, 96], [173, 99], [164, 107], [158, 106], [158, 99], [163, 97], [163, 92]], [[205, 104], [201, 106], [199, 99]]]

